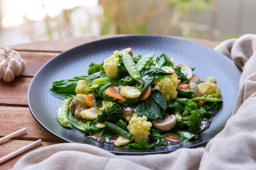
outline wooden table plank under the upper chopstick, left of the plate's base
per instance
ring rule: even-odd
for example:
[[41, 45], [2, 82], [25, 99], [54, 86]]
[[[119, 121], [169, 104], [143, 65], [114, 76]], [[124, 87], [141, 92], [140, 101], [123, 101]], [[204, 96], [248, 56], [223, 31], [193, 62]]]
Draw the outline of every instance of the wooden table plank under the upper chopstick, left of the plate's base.
[[26, 133], [13, 139], [29, 141], [42, 139], [46, 142], [64, 142], [41, 127], [30, 113], [29, 108], [0, 106], [0, 111], [0, 138], [26, 127]]

